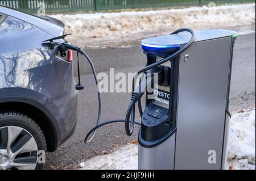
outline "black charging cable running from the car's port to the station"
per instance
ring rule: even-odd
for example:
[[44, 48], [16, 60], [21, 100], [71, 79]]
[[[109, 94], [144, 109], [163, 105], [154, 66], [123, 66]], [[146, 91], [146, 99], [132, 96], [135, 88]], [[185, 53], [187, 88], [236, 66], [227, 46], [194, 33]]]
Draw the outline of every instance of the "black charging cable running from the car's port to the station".
[[[177, 33], [180, 33], [180, 32], [189, 32], [189, 33], [191, 33], [191, 39], [188, 41], [188, 43], [185, 44], [181, 49], [177, 50], [171, 56], [163, 58], [162, 60], [159, 60], [159, 61], [155, 62], [154, 64], [150, 64], [148, 66], [145, 66], [143, 69], [138, 71], [139, 75], [141, 73], [145, 73], [147, 70], [150, 70], [150, 69], [155, 68], [156, 66], [159, 66], [159, 65], [161, 65], [161, 64], [163, 64], [167, 61], [170, 61], [173, 58], [176, 58], [177, 56], [179, 56], [181, 53], [183, 53], [186, 49], [188, 49], [190, 47], [190, 45], [195, 41], [195, 38], [196, 38], [195, 33], [190, 28], [180, 28], [179, 30], [176, 30], [176, 31], [172, 32], [171, 35], [177, 34]], [[90, 64], [90, 67], [92, 68], [93, 76], [94, 76], [96, 86], [97, 86], [98, 117], [97, 117], [97, 121], [96, 121], [96, 127], [94, 127], [92, 130], [89, 131], [88, 134], [86, 134], [86, 137], [85, 137], [85, 140], [84, 140], [85, 143], [88, 143], [88, 142], [92, 141], [92, 139], [95, 136], [96, 131], [97, 131], [98, 128], [100, 128], [100, 127], [102, 127], [106, 124], [111, 124], [111, 123], [125, 123], [126, 134], [128, 136], [131, 136], [131, 134], [133, 134], [134, 124], [141, 125], [141, 123], [139, 123], [138, 121], [134, 121], [135, 120], [135, 104], [138, 103], [139, 113], [142, 117], [143, 111], [142, 111], [142, 106], [141, 106], [141, 97], [144, 94], [144, 92], [141, 91], [141, 90], [134, 91], [134, 79], [133, 79], [133, 93], [131, 95], [131, 102], [130, 102], [129, 107], [127, 109], [125, 120], [109, 120], [109, 121], [106, 121], [105, 123], [99, 124], [100, 123], [100, 117], [101, 117], [101, 98], [100, 98], [100, 92], [98, 91], [97, 73], [96, 73], [96, 70], [93, 66], [93, 63], [90, 60], [89, 56], [84, 52], [84, 50], [80, 49], [79, 47], [75, 47], [71, 44], [66, 44], [66, 43], [63, 44], [62, 46], [63, 46], [63, 48], [76, 50], [77, 53], [79, 52], [80, 54], [85, 56], [85, 58], [88, 60], [88, 62]], [[78, 64], [78, 67], [79, 67], [79, 64]], [[80, 74], [79, 74], [79, 80], [80, 80]], [[80, 81], [79, 81], [79, 84], [80, 84]], [[141, 84], [139, 86], [141, 86]], [[93, 135], [89, 138], [89, 136], [91, 134], [93, 134]]]

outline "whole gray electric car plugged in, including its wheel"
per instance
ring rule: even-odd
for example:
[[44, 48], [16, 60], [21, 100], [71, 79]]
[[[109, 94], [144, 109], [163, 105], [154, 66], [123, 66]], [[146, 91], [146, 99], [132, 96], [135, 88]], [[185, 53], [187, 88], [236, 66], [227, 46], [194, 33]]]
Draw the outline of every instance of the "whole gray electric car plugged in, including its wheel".
[[59, 20], [0, 6], [0, 170], [40, 169], [75, 131], [71, 51], [43, 43], [63, 33]]

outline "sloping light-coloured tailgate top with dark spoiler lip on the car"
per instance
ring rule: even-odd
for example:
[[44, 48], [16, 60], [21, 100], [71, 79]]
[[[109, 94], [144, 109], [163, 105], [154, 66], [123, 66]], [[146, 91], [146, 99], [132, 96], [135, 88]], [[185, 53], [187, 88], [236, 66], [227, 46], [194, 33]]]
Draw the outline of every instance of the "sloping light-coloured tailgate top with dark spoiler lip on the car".
[[14, 9], [10, 9], [5, 6], [0, 6], [0, 12], [9, 16], [13, 16], [14, 18], [23, 20], [24, 22], [30, 23], [35, 27], [38, 27], [41, 30], [49, 33], [53, 37], [63, 35], [65, 29], [64, 24], [60, 22], [60, 20], [48, 16], [38, 17]]

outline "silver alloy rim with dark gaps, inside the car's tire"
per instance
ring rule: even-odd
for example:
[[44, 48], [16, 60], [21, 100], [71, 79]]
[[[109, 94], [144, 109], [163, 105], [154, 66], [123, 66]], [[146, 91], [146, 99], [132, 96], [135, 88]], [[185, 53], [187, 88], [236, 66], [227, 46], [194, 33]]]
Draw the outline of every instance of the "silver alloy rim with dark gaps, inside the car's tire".
[[0, 128], [0, 170], [34, 170], [38, 145], [30, 132], [21, 127]]

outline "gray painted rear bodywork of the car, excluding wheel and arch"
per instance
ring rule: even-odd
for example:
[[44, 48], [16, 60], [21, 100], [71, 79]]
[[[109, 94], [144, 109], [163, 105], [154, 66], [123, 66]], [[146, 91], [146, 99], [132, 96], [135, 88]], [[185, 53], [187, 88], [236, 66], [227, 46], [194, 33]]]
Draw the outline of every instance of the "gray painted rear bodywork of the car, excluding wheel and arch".
[[56, 56], [42, 42], [62, 35], [64, 27], [2, 6], [0, 13], [8, 15], [0, 24], [0, 103], [7, 97], [38, 102], [54, 117], [60, 145], [76, 125], [78, 91], [72, 62]]

